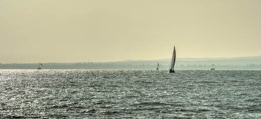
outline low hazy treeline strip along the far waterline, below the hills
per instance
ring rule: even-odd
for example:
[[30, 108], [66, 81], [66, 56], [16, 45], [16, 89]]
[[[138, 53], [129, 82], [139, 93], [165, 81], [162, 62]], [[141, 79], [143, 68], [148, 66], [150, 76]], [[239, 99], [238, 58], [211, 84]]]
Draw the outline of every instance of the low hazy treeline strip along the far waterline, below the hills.
[[[42, 63], [42, 69], [156, 69], [157, 64], [117, 64], [117, 63]], [[9, 63], [1, 64], [0, 69], [37, 69], [39, 63]], [[175, 69], [210, 70], [211, 64], [176, 64]], [[169, 65], [160, 65], [159, 69], [169, 69]], [[261, 70], [261, 64], [216, 64], [216, 70]]]

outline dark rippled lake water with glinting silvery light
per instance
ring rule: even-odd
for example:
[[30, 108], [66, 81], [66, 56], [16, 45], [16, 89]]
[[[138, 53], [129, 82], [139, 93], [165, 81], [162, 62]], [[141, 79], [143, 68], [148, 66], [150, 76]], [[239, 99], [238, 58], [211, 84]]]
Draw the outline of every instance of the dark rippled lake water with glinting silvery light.
[[0, 118], [261, 118], [261, 71], [0, 70]]

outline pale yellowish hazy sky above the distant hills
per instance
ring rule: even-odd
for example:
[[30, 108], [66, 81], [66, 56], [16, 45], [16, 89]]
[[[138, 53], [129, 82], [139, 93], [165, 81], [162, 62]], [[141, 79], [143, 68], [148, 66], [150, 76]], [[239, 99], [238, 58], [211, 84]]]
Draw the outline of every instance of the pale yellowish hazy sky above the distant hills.
[[261, 56], [261, 0], [0, 0], [0, 62]]

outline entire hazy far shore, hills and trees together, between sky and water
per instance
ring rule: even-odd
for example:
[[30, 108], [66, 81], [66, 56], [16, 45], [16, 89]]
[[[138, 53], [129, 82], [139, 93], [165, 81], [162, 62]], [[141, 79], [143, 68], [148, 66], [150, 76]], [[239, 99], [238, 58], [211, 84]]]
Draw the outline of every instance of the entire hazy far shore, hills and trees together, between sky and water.
[[[115, 62], [42, 63], [42, 69], [169, 69], [171, 59], [124, 60]], [[175, 69], [209, 70], [211, 64], [218, 70], [261, 70], [261, 56], [238, 58], [177, 58]], [[1, 64], [0, 69], [37, 69], [38, 63]]]

